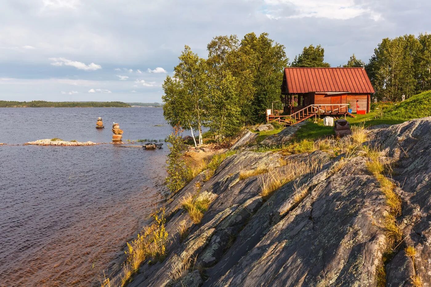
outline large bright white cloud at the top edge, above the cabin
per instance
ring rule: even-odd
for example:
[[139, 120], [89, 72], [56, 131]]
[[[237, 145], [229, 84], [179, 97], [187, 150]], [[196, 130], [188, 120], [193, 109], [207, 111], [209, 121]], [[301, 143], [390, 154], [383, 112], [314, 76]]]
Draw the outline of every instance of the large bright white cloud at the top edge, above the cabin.
[[[380, 14], [373, 12], [368, 7], [358, 5], [354, 0], [265, 0], [265, 3], [274, 6], [275, 11], [267, 11], [265, 14], [269, 19], [280, 18], [328, 18], [347, 20], [362, 14], [369, 14], [373, 20], [380, 19]], [[294, 9], [293, 14], [284, 16], [280, 6]]]

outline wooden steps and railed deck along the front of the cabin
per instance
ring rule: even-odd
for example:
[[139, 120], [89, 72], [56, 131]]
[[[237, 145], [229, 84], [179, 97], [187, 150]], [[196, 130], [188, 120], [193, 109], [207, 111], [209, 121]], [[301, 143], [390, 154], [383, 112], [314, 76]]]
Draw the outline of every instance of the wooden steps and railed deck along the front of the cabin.
[[309, 105], [291, 115], [268, 115], [266, 121], [277, 121], [281, 125], [290, 126], [303, 122], [312, 116], [317, 119], [318, 115], [344, 115], [344, 117], [350, 115], [354, 118], [355, 116], [347, 109], [347, 104]]

